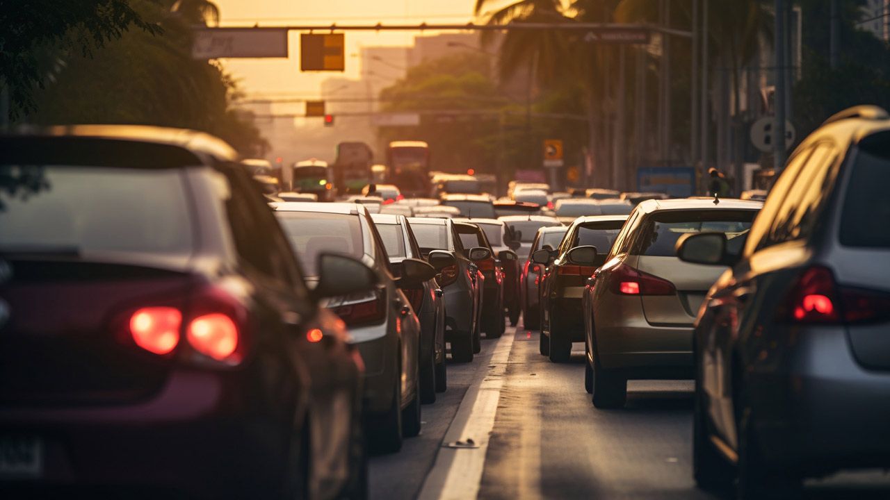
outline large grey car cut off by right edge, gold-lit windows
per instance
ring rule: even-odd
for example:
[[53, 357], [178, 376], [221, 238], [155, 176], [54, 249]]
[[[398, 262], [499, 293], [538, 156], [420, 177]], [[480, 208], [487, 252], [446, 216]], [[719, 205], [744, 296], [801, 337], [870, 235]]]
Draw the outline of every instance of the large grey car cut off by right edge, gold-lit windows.
[[883, 109], [847, 109], [790, 155], [743, 246], [678, 242], [725, 269], [695, 323], [700, 487], [793, 497], [806, 477], [890, 464], [888, 145]]

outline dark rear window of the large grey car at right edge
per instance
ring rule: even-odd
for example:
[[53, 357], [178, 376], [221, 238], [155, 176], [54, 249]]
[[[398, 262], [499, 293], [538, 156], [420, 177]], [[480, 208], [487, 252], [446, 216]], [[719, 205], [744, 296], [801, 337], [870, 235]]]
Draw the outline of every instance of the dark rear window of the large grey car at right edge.
[[846, 190], [840, 219], [844, 246], [890, 248], [890, 148], [860, 150]]

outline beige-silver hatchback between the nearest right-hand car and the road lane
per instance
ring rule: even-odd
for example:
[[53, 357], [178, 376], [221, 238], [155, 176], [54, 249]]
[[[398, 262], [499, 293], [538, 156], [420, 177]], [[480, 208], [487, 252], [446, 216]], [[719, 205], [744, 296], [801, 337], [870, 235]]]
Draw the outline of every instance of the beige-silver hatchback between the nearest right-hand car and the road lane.
[[720, 231], [740, 245], [762, 206], [718, 201], [644, 201], [587, 280], [585, 388], [596, 407], [622, 407], [628, 379], [692, 378], [692, 323], [724, 270], [681, 262], [676, 242]]

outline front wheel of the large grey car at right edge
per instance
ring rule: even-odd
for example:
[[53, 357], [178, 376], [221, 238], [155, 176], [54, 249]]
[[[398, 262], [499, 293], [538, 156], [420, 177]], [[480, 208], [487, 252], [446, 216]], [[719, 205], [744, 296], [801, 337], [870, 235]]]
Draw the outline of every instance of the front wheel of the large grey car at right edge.
[[695, 407], [692, 410], [692, 478], [701, 489], [719, 491], [732, 485], [735, 472], [708, 439], [705, 401], [699, 383], [700, 378], [696, 379]]

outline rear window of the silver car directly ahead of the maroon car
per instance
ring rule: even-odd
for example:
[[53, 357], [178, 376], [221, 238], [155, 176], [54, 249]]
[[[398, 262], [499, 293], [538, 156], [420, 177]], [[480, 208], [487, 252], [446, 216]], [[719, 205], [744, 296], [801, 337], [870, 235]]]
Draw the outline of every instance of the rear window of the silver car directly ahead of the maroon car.
[[319, 275], [320, 254], [360, 258], [365, 253], [357, 215], [318, 212], [276, 212], [275, 215], [299, 257], [305, 276]]

